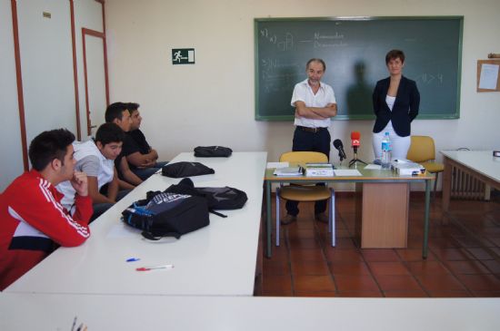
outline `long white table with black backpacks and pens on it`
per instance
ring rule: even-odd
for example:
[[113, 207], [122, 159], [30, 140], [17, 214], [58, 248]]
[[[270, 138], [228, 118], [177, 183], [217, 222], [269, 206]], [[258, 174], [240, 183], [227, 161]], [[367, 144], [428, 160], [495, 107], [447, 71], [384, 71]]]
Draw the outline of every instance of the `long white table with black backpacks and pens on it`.
[[[6, 292], [252, 296], [261, 219], [266, 152], [235, 152], [230, 158], [195, 158], [181, 153], [171, 162], [200, 161], [215, 174], [192, 177], [195, 186], [245, 190], [243, 209], [210, 215], [210, 225], [183, 236], [152, 242], [126, 226], [121, 212], [148, 190], [165, 190], [180, 179], [155, 174], [96, 219], [91, 237], [77, 248], [58, 248]], [[125, 262], [127, 258], [141, 258]], [[174, 264], [148, 272], [137, 267]], [[134, 311], [134, 308], [131, 307]], [[141, 318], [141, 319], [147, 319]]]

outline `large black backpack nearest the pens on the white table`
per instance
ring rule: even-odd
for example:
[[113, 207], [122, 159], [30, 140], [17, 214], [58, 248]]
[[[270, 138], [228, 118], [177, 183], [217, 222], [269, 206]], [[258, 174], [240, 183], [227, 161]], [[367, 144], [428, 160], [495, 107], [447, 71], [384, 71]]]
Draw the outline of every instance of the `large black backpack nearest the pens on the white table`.
[[208, 205], [202, 197], [160, 191], [147, 192], [122, 212], [126, 224], [142, 229], [146, 239], [179, 239], [185, 233], [210, 224]]

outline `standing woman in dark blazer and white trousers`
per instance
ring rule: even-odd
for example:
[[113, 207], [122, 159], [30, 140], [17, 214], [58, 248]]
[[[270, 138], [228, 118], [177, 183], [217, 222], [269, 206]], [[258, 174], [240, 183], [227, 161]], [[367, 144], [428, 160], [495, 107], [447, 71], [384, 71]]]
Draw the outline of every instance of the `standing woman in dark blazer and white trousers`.
[[375, 125], [373, 145], [375, 159], [382, 157], [382, 139], [385, 132], [393, 143], [392, 158], [406, 159], [410, 148], [410, 123], [418, 114], [420, 93], [415, 81], [403, 76], [405, 54], [392, 50], [385, 55], [385, 64], [390, 76], [378, 81], [373, 94]]

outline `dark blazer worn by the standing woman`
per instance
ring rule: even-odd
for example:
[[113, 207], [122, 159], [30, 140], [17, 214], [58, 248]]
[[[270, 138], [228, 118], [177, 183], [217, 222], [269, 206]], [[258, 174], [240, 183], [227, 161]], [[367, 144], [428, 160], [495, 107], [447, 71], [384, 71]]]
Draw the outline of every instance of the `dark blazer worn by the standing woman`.
[[385, 96], [389, 90], [390, 77], [378, 81], [375, 85], [373, 94], [374, 112], [375, 112], [375, 125], [374, 132], [378, 133], [384, 130], [385, 125], [389, 121], [393, 123], [395, 132], [400, 137], [410, 135], [410, 123], [415, 119], [418, 114], [418, 107], [420, 105], [420, 93], [416, 88], [415, 81], [407, 79], [405, 76], [401, 77], [397, 94], [395, 96], [395, 104], [393, 111], [389, 109], [385, 102]]

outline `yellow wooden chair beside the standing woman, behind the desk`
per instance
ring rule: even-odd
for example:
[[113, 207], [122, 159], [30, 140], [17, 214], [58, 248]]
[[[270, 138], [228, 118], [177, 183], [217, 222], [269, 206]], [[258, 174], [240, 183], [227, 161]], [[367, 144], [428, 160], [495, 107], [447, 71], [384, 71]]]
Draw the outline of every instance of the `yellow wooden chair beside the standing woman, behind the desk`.
[[422, 164], [425, 170], [435, 174], [434, 200], [435, 190], [437, 188], [437, 177], [439, 172], [445, 170], [445, 165], [443, 163], [435, 162], [434, 139], [429, 136], [412, 136], [412, 142], [406, 154], [406, 159]]

